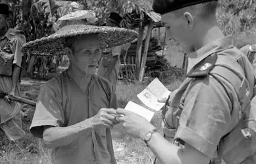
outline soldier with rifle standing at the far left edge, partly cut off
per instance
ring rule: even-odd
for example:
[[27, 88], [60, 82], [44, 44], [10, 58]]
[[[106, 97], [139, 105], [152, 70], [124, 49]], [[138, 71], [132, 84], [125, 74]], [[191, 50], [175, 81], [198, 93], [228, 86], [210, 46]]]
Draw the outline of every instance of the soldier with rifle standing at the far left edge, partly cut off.
[[[0, 92], [19, 96], [19, 79], [22, 63], [21, 48], [26, 43], [23, 31], [7, 26], [9, 6], [3, 0], [0, 4]], [[10, 140], [21, 139], [22, 130], [20, 104], [11, 102], [8, 96], [0, 98], [1, 127]], [[9, 120], [11, 119], [11, 120]], [[9, 121], [8, 121], [9, 120]]]

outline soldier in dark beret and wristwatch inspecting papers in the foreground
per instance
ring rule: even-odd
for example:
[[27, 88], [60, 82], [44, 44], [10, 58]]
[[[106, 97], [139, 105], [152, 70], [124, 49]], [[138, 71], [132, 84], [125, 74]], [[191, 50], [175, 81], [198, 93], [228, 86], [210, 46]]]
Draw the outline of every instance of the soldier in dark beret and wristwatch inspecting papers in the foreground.
[[164, 136], [136, 113], [116, 113], [126, 132], [153, 151], [155, 163], [207, 164], [216, 157], [226, 164], [256, 163], [253, 66], [218, 28], [217, 7], [213, 0], [153, 1], [166, 33], [191, 53], [188, 76], [166, 101]]

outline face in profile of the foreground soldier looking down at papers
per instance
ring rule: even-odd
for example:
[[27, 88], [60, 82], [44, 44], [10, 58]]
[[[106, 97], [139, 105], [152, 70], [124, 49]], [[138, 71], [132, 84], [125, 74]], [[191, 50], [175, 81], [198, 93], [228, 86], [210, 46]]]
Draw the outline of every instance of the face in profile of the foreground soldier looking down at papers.
[[162, 16], [163, 25], [166, 27], [166, 39], [176, 40], [185, 52], [193, 51], [191, 35], [192, 31], [188, 19], [184, 14], [168, 12]]

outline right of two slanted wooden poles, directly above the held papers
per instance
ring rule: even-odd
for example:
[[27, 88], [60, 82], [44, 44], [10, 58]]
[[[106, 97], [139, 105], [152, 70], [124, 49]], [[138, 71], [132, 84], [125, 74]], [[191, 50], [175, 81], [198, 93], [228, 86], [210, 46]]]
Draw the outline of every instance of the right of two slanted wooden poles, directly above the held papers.
[[146, 36], [146, 40], [145, 40], [145, 49], [144, 49], [142, 60], [141, 60], [139, 83], [142, 82], [143, 76], [144, 76], [144, 73], [145, 73], [145, 64], [146, 64], [146, 61], [147, 61], [147, 51], [149, 50], [149, 41], [150, 41], [150, 38], [151, 38], [152, 29], [153, 29], [153, 22], [150, 21], [149, 26], [147, 28], [147, 36]]

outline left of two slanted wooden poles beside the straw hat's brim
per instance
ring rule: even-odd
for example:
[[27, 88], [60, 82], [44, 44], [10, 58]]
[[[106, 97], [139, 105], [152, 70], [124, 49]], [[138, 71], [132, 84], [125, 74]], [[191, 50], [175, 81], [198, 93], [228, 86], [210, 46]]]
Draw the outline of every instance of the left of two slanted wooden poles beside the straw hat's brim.
[[136, 49], [136, 78], [138, 77], [140, 73], [140, 64], [141, 64], [141, 50], [143, 45], [143, 32], [144, 32], [144, 26], [143, 26], [143, 18], [144, 14], [143, 12], [140, 13], [140, 28], [139, 28], [139, 36], [137, 41], [137, 49]]

